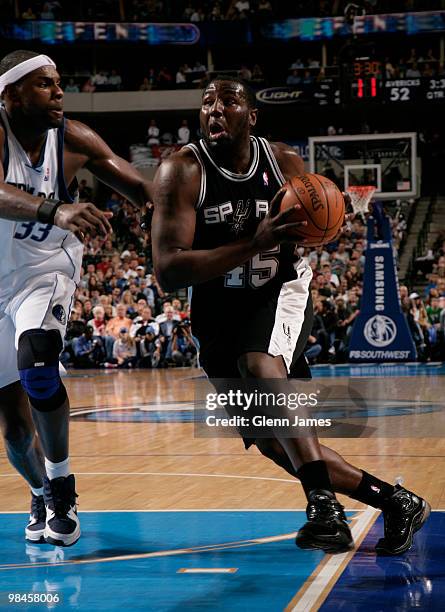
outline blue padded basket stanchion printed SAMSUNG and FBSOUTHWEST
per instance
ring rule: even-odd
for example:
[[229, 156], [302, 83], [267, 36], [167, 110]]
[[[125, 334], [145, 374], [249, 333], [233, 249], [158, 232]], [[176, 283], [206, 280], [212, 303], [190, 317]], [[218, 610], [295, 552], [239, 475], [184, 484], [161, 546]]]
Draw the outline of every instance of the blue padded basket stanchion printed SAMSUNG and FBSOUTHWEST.
[[349, 360], [413, 361], [416, 349], [400, 307], [391, 228], [387, 217], [378, 217], [377, 209], [368, 219], [363, 296], [352, 329]]

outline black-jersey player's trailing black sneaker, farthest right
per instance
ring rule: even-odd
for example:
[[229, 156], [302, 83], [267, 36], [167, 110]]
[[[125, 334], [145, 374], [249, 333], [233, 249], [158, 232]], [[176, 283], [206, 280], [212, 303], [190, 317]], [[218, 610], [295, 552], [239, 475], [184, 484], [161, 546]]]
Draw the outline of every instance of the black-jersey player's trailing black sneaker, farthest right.
[[429, 517], [431, 507], [421, 497], [396, 485], [382, 512], [385, 536], [375, 549], [379, 555], [400, 555], [411, 548], [413, 536]]

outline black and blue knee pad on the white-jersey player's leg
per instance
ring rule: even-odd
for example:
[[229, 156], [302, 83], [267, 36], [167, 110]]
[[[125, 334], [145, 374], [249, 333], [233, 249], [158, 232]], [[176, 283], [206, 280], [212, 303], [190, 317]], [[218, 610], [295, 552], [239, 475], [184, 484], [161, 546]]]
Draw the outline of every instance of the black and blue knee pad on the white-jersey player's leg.
[[57, 410], [66, 400], [66, 389], [59, 374], [62, 347], [62, 338], [55, 329], [29, 329], [19, 338], [20, 381], [36, 410]]

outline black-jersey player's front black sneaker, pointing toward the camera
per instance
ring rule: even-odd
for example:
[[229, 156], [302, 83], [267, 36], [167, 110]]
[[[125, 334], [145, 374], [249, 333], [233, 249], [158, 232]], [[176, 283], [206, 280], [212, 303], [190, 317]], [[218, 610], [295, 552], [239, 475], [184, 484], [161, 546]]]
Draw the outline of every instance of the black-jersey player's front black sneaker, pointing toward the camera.
[[304, 549], [340, 553], [354, 546], [343, 506], [331, 491], [315, 489], [309, 494], [308, 522], [298, 531], [296, 544]]

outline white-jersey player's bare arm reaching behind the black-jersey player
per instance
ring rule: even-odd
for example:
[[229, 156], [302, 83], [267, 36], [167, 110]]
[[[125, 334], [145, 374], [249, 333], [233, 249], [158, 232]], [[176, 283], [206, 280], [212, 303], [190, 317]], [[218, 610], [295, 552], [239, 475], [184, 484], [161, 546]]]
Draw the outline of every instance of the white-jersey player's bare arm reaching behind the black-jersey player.
[[[122, 157], [116, 155], [90, 127], [79, 121], [66, 123], [65, 146], [74, 162], [81, 162], [99, 180], [141, 208], [152, 202], [152, 182]], [[68, 162], [69, 163], [69, 162]]]

